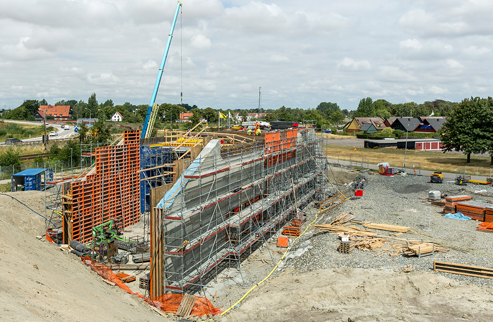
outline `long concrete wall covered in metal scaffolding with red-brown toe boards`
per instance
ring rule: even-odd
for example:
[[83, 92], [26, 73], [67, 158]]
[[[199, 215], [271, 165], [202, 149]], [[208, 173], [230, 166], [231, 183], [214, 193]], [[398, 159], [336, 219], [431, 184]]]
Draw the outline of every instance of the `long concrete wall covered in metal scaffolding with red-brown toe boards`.
[[323, 190], [315, 128], [266, 133], [264, 142], [225, 154], [219, 149], [211, 140], [186, 161], [151, 216], [151, 296], [198, 291], [226, 260], [239, 268], [297, 214], [296, 206], [303, 209]]

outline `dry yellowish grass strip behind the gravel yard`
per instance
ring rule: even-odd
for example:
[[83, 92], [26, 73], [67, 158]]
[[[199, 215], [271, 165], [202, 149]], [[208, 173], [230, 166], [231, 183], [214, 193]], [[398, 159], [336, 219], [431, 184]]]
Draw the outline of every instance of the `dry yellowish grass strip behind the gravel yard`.
[[[383, 149], [363, 149], [358, 148], [354, 152], [354, 147], [327, 144], [325, 151], [329, 154], [351, 155], [370, 159], [370, 163], [378, 161], [401, 161], [404, 162], [404, 150], [395, 147]], [[442, 153], [434, 151], [407, 150], [406, 163], [420, 163], [422, 170], [443, 171], [455, 173], [461, 166], [471, 167], [490, 167], [489, 157], [471, 156], [471, 162], [466, 163], [467, 157], [464, 154]]]

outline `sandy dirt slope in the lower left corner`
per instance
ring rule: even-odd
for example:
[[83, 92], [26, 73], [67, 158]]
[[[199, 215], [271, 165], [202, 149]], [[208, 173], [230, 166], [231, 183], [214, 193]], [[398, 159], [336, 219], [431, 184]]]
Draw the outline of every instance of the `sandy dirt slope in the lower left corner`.
[[[44, 193], [12, 195], [44, 215]], [[10, 197], [0, 195], [0, 204], [1, 321], [166, 321], [76, 256], [36, 239], [44, 219]]]

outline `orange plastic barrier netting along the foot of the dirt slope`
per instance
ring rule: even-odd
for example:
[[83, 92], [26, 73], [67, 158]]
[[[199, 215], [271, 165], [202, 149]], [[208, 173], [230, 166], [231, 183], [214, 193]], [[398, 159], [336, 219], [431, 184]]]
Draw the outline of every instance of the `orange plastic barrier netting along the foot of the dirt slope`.
[[[129, 289], [128, 286], [125, 285], [116, 275], [113, 273], [113, 271], [107, 267], [106, 265], [99, 263], [97, 261], [93, 261], [90, 257], [83, 257], [81, 258], [82, 261], [90, 266], [93, 271], [98, 273], [101, 277], [104, 279], [115, 283], [118, 285], [122, 290], [126, 290], [128, 293], [132, 295], [137, 295], [139, 298], [143, 299], [147, 303], [149, 303], [152, 306], [155, 306], [157, 308], [160, 308], [162, 312], [174, 312], [178, 310], [178, 307], [180, 306], [181, 300], [183, 299], [182, 294], [163, 294], [161, 296], [155, 297], [155, 298], [148, 298], [145, 297], [139, 293], [135, 293]], [[192, 309], [192, 312], [190, 313], [191, 315], [195, 315], [198, 317], [201, 317], [203, 315], [217, 315], [221, 314], [222, 311], [219, 309], [216, 309], [211, 301], [209, 301], [205, 297], [199, 297], [196, 296], [197, 301], [195, 302], [195, 305]]]

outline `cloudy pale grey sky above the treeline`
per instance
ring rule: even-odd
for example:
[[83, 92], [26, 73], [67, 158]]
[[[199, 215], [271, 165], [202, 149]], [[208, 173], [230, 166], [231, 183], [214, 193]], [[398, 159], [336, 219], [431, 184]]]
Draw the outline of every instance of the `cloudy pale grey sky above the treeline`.
[[[491, 0], [183, 0], [158, 103], [354, 110], [492, 94]], [[176, 0], [0, 0], [0, 108], [148, 104]]]

